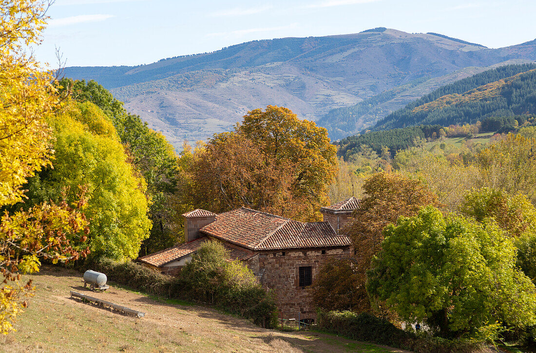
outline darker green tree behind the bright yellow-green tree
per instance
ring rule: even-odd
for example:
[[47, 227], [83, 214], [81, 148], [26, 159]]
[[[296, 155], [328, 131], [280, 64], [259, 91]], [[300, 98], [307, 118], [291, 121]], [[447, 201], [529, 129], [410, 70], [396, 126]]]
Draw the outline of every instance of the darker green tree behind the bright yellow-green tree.
[[181, 161], [159, 132], [151, 130], [139, 116], [128, 113], [123, 103], [91, 80], [58, 82], [59, 92], [78, 102], [91, 102], [109, 117], [129, 155], [129, 162], [147, 184], [152, 221], [150, 236], [143, 242], [140, 256], [173, 246], [182, 239], [181, 211], [187, 207], [177, 200]]

